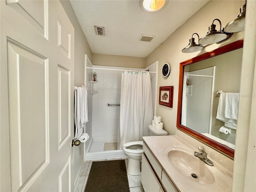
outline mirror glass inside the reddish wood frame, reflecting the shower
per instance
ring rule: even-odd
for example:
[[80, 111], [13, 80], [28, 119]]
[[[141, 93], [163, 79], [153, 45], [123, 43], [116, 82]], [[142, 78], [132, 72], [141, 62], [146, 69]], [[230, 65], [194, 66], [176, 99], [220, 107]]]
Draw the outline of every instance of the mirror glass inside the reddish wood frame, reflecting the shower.
[[[221, 110], [225, 110], [221, 104], [225, 98], [220, 100], [220, 95], [239, 92], [241, 65], [242, 48], [184, 67], [181, 124], [233, 149], [236, 126], [229, 126], [220, 117]], [[238, 102], [233, 102], [230, 108], [236, 106]]]

